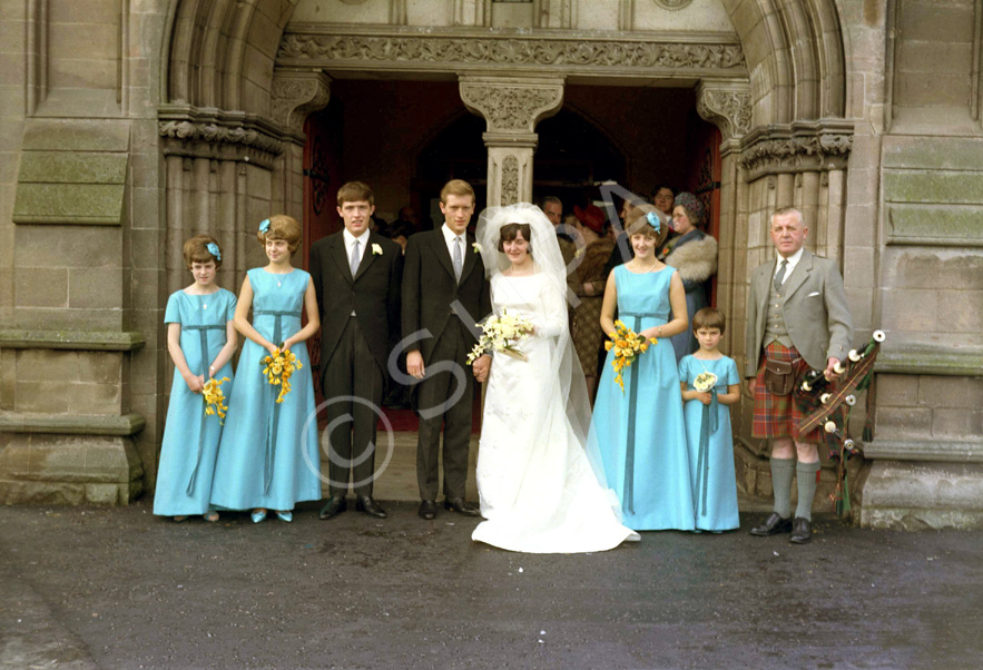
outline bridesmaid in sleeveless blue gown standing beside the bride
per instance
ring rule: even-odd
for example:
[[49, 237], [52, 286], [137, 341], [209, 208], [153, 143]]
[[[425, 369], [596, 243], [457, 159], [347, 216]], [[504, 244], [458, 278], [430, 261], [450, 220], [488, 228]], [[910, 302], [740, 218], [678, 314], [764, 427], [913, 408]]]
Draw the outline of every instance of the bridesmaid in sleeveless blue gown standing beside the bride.
[[620, 321], [658, 344], [623, 371], [623, 392], [615, 383], [613, 352], [608, 352], [591, 434], [608, 485], [621, 501], [625, 525], [636, 531], [694, 530], [682, 401], [670, 341], [687, 327], [686, 293], [679, 274], [655, 256], [668, 227], [660, 225], [651, 206], [638, 207], [632, 215], [637, 218], [628, 234], [635, 258], [608, 277], [601, 327], [615, 331], [617, 306]]

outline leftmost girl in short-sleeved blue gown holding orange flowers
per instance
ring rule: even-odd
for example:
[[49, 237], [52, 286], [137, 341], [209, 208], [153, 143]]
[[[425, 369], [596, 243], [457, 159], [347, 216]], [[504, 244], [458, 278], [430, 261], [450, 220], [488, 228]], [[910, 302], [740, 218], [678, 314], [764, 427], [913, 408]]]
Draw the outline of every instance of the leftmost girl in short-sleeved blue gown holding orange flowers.
[[222, 391], [226, 396], [232, 393], [236, 296], [215, 284], [222, 266], [222, 250], [215, 238], [190, 238], [185, 243], [184, 257], [195, 283], [174, 293], [164, 312], [175, 375], [157, 467], [154, 513], [174, 516], [175, 521], [203, 514], [214, 522], [218, 513], [209, 509], [208, 496], [222, 424], [217, 415], [205, 414], [201, 390], [209, 377], [228, 377]]

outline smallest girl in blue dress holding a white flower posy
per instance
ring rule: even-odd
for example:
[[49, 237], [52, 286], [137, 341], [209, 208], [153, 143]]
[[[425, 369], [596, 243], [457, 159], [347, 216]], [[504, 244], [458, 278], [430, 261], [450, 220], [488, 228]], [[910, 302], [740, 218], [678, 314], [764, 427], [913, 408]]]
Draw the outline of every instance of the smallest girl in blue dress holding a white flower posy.
[[[679, 362], [696, 528], [712, 532], [740, 526], [730, 435], [730, 405], [740, 401], [740, 377], [737, 364], [717, 348], [726, 327], [721, 312], [711, 307], [697, 312], [692, 334], [700, 348]], [[717, 377], [711, 391], [696, 390], [696, 378], [704, 373]]]

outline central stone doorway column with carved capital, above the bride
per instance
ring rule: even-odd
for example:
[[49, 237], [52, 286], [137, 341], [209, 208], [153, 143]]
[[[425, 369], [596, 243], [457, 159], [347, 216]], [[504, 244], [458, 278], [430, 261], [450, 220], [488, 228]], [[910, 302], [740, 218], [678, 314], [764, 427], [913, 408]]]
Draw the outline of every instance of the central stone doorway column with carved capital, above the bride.
[[532, 155], [540, 119], [563, 104], [561, 77], [461, 77], [461, 99], [484, 117], [488, 147], [488, 205], [532, 199]]

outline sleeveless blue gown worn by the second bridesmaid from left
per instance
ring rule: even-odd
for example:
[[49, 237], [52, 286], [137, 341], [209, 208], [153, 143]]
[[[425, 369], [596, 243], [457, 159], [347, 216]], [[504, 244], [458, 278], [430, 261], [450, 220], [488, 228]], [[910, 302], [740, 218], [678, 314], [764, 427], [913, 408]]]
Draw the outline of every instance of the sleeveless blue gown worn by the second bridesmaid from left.
[[[275, 275], [247, 273], [253, 287], [253, 327], [281, 344], [301, 329], [304, 294], [311, 275], [294, 269]], [[293, 510], [321, 499], [321, 459], [314, 385], [307, 346], [291, 349], [303, 367], [291, 377], [291, 392], [277, 404], [279, 386], [263, 375], [268, 352], [247, 339], [239, 357], [236, 395], [228, 406], [215, 464], [212, 503], [228, 510]]]

